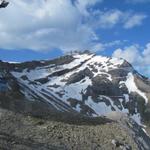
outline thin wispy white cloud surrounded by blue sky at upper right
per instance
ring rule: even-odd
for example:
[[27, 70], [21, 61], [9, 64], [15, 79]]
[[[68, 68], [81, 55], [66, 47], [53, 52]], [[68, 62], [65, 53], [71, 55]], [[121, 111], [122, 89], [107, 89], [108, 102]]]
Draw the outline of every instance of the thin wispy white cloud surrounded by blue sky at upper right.
[[95, 11], [93, 12], [93, 16], [93, 18], [96, 18], [94, 21], [91, 21], [94, 26], [105, 29], [113, 28], [116, 25], [120, 25], [124, 29], [130, 29], [142, 25], [144, 19], [147, 18], [145, 14], [118, 9]]

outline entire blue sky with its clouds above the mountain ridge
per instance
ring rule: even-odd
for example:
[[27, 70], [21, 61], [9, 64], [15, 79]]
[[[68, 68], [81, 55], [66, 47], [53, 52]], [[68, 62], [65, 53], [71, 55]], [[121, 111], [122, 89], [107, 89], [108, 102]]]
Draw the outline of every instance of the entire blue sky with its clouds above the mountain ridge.
[[150, 0], [13, 0], [0, 16], [1, 60], [89, 49], [150, 76]]

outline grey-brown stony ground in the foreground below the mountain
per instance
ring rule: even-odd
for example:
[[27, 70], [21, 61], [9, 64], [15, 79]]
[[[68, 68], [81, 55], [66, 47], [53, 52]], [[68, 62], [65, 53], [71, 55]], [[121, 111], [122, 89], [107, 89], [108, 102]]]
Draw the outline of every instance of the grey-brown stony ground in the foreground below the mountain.
[[113, 150], [125, 145], [137, 150], [133, 138], [114, 121], [65, 123], [0, 109], [0, 150]]

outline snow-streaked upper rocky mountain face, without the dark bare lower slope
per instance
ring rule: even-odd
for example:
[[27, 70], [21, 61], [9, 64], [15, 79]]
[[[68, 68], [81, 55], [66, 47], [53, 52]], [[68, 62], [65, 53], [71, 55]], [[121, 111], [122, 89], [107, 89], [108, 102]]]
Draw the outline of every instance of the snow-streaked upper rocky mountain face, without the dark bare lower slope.
[[57, 111], [88, 116], [117, 111], [140, 122], [149, 103], [149, 84], [123, 59], [86, 51], [50, 61], [0, 65], [25, 99], [48, 103]]

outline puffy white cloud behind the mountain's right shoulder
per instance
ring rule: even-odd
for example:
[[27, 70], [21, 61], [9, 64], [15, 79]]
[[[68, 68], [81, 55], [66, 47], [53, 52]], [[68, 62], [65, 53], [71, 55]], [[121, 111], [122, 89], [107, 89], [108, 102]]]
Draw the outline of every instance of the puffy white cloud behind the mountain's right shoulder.
[[150, 43], [148, 43], [145, 48], [139, 45], [131, 45], [123, 49], [116, 49], [113, 53], [113, 57], [124, 58], [133, 64], [137, 70], [150, 76]]

